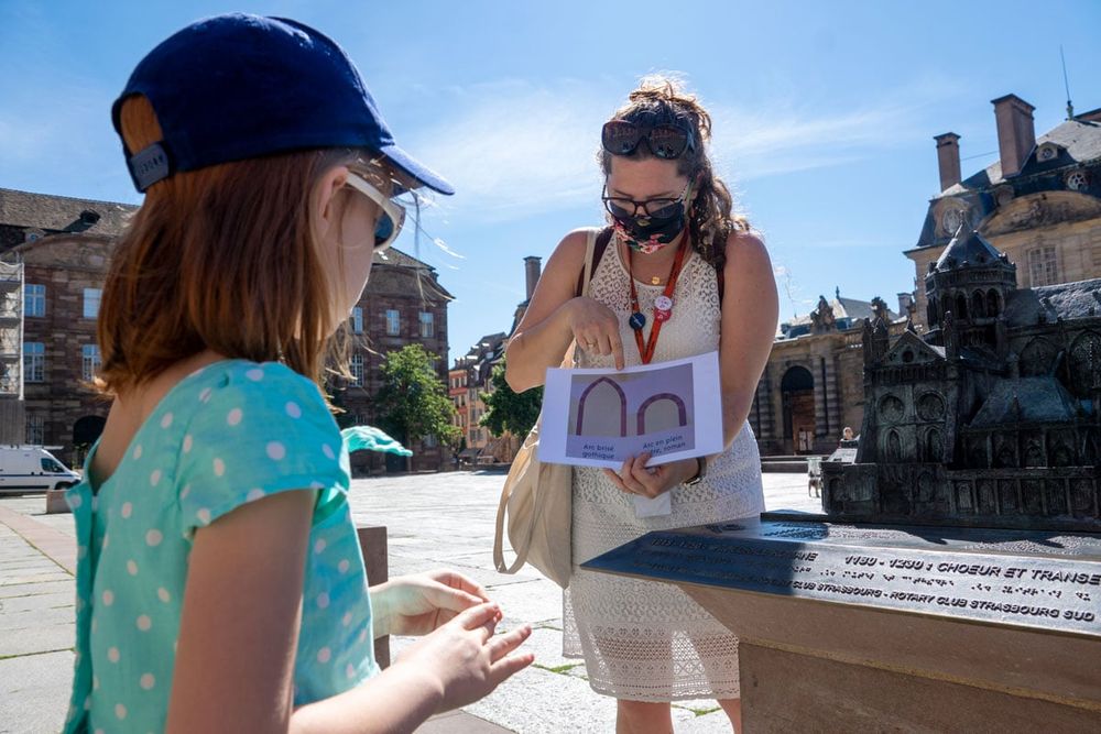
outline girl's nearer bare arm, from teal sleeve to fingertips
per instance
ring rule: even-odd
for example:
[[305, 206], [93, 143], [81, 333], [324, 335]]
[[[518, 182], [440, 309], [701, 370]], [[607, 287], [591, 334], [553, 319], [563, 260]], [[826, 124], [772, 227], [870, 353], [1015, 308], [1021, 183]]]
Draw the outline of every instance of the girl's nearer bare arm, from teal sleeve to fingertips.
[[[243, 505], [195, 534], [168, 732], [412, 732], [532, 662], [531, 628], [493, 636], [500, 610], [464, 611], [366, 683], [293, 710], [313, 491]], [[404, 610], [399, 610], [399, 612]]]

